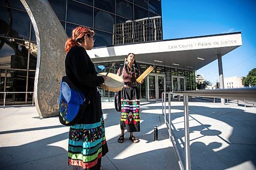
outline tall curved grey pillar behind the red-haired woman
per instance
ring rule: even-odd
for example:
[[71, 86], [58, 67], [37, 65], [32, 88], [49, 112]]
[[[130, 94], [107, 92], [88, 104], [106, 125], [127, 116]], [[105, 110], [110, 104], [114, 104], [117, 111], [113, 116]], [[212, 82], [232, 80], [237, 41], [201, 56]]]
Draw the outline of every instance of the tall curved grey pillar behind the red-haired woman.
[[65, 75], [67, 34], [47, 0], [20, 0], [32, 21], [37, 43], [34, 98], [42, 117], [58, 114], [61, 77]]

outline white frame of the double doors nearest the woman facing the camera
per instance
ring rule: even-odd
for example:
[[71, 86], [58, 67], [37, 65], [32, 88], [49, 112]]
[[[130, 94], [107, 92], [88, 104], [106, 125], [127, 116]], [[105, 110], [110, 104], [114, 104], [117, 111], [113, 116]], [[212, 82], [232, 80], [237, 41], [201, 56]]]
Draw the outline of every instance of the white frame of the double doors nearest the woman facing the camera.
[[[154, 76], [155, 77], [155, 99], [150, 99], [150, 76]], [[161, 75], [161, 74], [149, 74], [147, 76], [147, 101], [160, 101], [162, 99], [159, 99], [159, 86], [158, 86], [158, 77], [163, 77], [164, 80], [164, 91], [165, 91], [165, 75]]]

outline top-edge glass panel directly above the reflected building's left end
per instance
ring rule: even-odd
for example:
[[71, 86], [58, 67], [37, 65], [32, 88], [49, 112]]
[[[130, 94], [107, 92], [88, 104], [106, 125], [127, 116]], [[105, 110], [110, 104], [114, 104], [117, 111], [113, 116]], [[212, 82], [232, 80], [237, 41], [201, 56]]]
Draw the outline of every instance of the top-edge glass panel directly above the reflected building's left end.
[[116, 14], [133, 19], [133, 4], [123, 0], [116, 0]]

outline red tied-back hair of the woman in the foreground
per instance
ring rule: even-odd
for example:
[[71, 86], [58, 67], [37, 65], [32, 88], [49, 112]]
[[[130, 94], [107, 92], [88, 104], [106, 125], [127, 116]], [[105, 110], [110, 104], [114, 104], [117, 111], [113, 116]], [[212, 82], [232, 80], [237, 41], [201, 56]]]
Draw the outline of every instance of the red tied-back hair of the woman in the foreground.
[[68, 53], [71, 47], [77, 45], [77, 40], [82, 39], [85, 34], [94, 35], [94, 31], [87, 27], [77, 27], [72, 31], [72, 37], [68, 38], [65, 44], [65, 51]]

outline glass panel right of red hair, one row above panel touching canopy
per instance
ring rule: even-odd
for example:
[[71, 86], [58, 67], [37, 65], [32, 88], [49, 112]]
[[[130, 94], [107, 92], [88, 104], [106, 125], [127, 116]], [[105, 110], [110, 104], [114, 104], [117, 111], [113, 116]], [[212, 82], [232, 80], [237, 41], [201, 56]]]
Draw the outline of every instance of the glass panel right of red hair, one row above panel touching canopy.
[[94, 9], [94, 28], [114, 33], [115, 16], [108, 12]]

